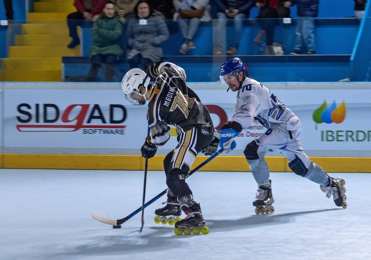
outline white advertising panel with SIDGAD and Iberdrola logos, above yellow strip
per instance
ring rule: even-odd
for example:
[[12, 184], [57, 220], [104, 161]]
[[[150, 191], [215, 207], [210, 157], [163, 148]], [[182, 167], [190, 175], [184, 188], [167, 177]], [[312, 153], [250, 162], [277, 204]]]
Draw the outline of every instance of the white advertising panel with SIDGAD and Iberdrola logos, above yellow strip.
[[[147, 136], [147, 106], [133, 106], [115, 89], [10, 89], [4, 91], [4, 147], [140, 149]], [[93, 85], [93, 84], [92, 84]], [[194, 85], [194, 84], [193, 84]], [[215, 127], [232, 117], [236, 93], [196, 89]], [[274, 89], [301, 120], [305, 150], [370, 150], [371, 89]], [[252, 122], [237, 148], [264, 129]], [[173, 149], [172, 136], [159, 149]]]

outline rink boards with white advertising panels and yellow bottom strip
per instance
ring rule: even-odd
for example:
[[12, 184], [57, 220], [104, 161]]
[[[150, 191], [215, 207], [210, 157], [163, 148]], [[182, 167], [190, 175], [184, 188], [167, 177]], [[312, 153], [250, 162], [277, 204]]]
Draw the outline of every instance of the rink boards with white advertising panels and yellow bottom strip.
[[[236, 93], [227, 93], [226, 86], [217, 82], [189, 85], [206, 104], [214, 127], [219, 129], [232, 117]], [[311, 153], [313, 160], [322, 161], [329, 172], [371, 171], [370, 83], [265, 85], [300, 118], [304, 150], [321, 152]], [[139, 148], [147, 136], [147, 107], [130, 105], [119, 83], [6, 82], [1, 88], [0, 167], [142, 169]], [[253, 121], [236, 138], [236, 156], [220, 156], [205, 170], [247, 167], [242, 151], [265, 131]], [[158, 159], [151, 160], [151, 169], [162, 169], [161, 158], [177, 144], [175, 129], [171, 133], [158, 148]], [[341, 157], [334, 157], [339, 152]], [[198, 157], [194, 166], [205, 158]], [[267, 161], [274, 171], [289, 170], [279, 155]]]

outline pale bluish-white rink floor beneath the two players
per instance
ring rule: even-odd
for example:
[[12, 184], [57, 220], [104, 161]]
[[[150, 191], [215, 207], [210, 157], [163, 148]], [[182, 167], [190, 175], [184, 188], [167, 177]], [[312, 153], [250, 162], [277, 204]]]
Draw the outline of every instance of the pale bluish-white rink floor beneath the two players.
[[[275, 213], [257, 216], [250, 172], [198, 172], [187, 182], [210, 233], [176, 236], [153, 222], [155, 208], [112, 229], [91, 212], [122, 218], [141, 206], [143, 172], [0, 169], [0, 259], [370, 259], [367, 173], [345, 178], [348, 208], [315, 183], [272, 173]], [[165, 189], [163, 172], [149, 172], [146, 201]], [[184, 217], [184, 214], [183, 216]]]

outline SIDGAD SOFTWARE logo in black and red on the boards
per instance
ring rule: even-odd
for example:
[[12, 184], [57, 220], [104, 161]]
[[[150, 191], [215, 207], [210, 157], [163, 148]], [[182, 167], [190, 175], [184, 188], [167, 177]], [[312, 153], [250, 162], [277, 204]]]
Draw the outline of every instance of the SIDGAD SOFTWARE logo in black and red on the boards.
[[[56, 104], [35, 104], [34, 107], [32, 105], [22, 103], [17, 106], [17, 111], [21, 115], [16, 119], [21, 124], [17, 124], [16, 127], [20, 132], [73, 132], [90, 128], [83, 129], [83, 133], [125, 134], [126, 126], [121, 123], [126, 120], [127, 112], [120, 104], [110, 104], [105, 109], [98, 104], [71, 104], [65, 110]], [[97, 120], [99, 125], [92, 124]]]

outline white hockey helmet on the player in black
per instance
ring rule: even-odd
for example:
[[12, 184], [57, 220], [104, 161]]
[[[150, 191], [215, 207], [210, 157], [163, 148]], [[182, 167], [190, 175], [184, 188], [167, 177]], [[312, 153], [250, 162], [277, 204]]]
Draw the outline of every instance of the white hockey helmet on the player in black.
[[[148, 91], [148, 85], [150, 84], [150, 77], [141, 69], [134, 68], [130, 69], [121, 81], [121, 88], [125, 94], [125, 98], [133, 105], [144, 105], [147, 101], [145, 94]], [[142, 94], [141, 91], [145, 89]], [[138, 100], [131, 97], [131, 94], [135, 93], [144, 98], [144, 100]]]

